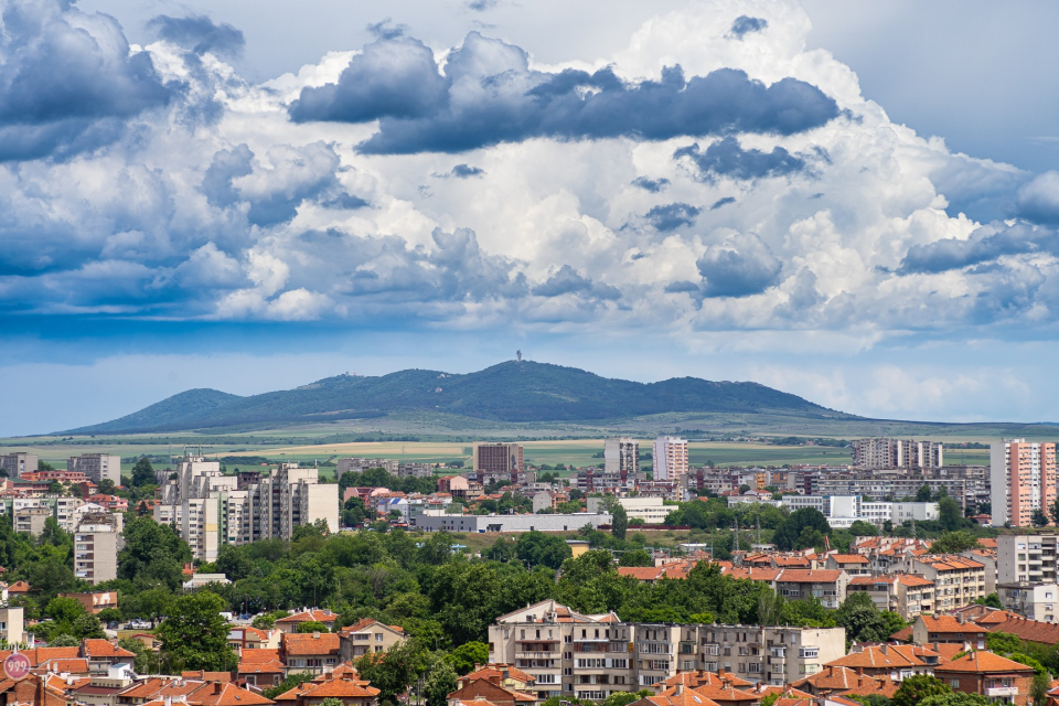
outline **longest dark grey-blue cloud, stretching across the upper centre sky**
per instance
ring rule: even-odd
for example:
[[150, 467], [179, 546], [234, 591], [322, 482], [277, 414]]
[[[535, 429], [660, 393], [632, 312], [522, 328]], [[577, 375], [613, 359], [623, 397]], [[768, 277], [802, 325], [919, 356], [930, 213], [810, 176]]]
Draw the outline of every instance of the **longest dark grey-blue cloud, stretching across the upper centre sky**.
[[838, 108], [804, 82], [766, 86], [731, 68], [686, 78], [673, 66], [661, 81], [638, 85], [610, 68], [534, 72], [521, 49], [472, 32], [449, 55], [445, 76], [418, 41], [368, 44], [336, 84], [302, 89], [289, 114], [299, 122], [378, 119], [378, 132], [359, 147], [385, 154], [460, 152], [541, 137], [791, 135], [824, 125]]

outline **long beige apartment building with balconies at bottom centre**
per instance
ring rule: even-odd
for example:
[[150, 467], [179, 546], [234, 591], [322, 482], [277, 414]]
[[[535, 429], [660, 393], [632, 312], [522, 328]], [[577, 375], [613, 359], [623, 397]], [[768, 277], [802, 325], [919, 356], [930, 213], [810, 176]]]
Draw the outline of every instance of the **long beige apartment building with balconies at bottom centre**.
[[623, 623], [545, 600], [498, 618], [489, 645], [490, 662], [536, 680], [539, 699], [602, 700], [699, 668], [783, 684], [845, 654], [845, 630]]

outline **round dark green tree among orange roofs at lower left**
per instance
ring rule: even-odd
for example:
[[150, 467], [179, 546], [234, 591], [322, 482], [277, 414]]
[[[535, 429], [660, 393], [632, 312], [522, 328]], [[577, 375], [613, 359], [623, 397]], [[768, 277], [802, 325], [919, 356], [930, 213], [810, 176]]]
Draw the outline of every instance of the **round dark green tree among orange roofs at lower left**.
[[[205, 670], [229, 672], [238, 660], [228, 646], [228, 623], [221, 617], [224, 601], [201, 590], [181, 596], [156, 634], [162, 642], [167, 666], [174, 672]], [[179, 667], [179, 668], [178, 668]]]

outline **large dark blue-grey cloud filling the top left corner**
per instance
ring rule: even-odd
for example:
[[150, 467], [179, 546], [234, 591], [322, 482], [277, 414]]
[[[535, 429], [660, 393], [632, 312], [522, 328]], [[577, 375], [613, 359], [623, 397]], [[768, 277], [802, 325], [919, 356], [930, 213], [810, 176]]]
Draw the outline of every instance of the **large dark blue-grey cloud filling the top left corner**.
[[64, 159], [118, 139], [125, 121], [165, 105], [148, 54], [121, 28], [56, 0], [4, 6], [0, 33], [0, 161]]

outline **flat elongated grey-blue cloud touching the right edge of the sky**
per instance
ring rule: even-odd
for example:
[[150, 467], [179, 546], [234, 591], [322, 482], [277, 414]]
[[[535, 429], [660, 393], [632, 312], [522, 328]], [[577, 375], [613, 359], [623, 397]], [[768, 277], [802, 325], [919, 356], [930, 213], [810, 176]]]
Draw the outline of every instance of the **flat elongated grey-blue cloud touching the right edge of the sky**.
[[964, 240], [945, 238], [908, 249], [898, 268], [901, 275], [922, 275], [992, 263], [1006, 255], [1059, 254], [1059, 236], [1050, 228], [1027, 224], [991, 223]]

